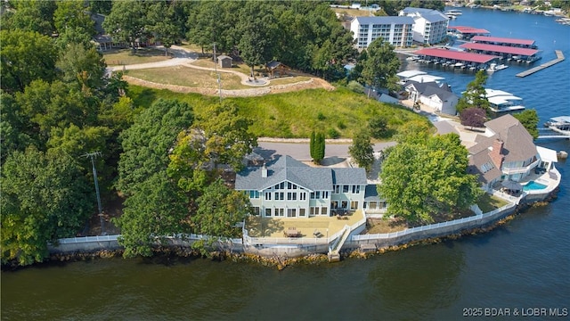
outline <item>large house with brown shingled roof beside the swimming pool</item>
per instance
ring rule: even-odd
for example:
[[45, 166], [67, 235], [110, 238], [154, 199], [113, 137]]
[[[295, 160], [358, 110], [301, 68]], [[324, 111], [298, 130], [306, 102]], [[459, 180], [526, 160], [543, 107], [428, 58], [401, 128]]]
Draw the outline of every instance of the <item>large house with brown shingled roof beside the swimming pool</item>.
[[520, 182], [536, 168], [550, 171], [557, 161], [556, 152], [537, 147], [533, 136], [510, 114], [485, 122], [485, 135], [477, 136], [468, 152], [468, 172], [479, 174], [487, 190], [504, 180]]

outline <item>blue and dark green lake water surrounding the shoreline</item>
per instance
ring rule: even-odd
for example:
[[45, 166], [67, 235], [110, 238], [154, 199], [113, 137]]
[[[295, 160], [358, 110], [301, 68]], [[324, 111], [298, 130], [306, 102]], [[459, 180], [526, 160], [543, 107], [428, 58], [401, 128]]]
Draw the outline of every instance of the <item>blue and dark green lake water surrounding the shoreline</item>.
[[[562, 50], [565, 62], [527, 78], [515, 77], [525, 68], [511, 66], [487, 84], [523, 97], [542, 122], [570, 115], [569, 26], [550, 17], [461, 9], [452, 25], [535, 39], [544, 50], [539, 63]], [[428, 71], [458, 93], [474, 77]], [[539, 144], [570, 152], [567, 140]], [[25, 268], [2, 272], [2, 319], [456, 320], [478, 309], [484, 316], [509, 309], [511, 317], [504, 319], [548, 319], [543, 312], [556, 312], [549, 309], [563, 315], [570, 309], [570, 161], [557, 167], [563, 177], [557, 200], [485, 235], [281, 272], [208, 259], [100, 259]], [[512, 317], [515, 309], [518, 317]]]

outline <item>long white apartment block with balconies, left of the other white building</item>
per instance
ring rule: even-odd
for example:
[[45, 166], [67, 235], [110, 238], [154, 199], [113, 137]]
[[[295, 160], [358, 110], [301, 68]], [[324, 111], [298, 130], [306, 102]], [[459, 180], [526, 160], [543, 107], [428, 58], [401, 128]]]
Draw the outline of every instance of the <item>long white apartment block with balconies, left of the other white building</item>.
[[411, 46], [413, 19], [410, 17], [357, 17], [350, 24], [356, 48], [364, 49], [379, 37], [399, 47]]

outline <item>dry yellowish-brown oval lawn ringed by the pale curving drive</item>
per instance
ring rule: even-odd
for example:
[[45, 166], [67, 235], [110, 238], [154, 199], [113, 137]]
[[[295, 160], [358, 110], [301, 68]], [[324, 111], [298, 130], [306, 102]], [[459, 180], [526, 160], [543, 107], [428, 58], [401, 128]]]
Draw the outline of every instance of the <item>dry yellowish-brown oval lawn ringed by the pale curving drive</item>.
[[[250, 86], [241, 85], [240, 77], [220, 72], [223, 89], [248, 89]], [[127, 76], [157, 82], [159, 84], [217, 88], [217, 78], [214, 70], [196, 70], [184, 66], [151, 68], [145, 70], [127, 70]]]

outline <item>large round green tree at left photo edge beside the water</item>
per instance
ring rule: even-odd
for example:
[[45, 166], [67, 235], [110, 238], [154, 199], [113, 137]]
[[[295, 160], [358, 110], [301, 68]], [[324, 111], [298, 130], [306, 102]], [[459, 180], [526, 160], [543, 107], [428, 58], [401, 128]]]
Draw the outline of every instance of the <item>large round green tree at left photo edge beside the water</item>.
[[12, 152], [2, 168], [2, 262], [41, 262], [47, 242], [76, 235], [94, 212], [93, 187], [68, 154]]

